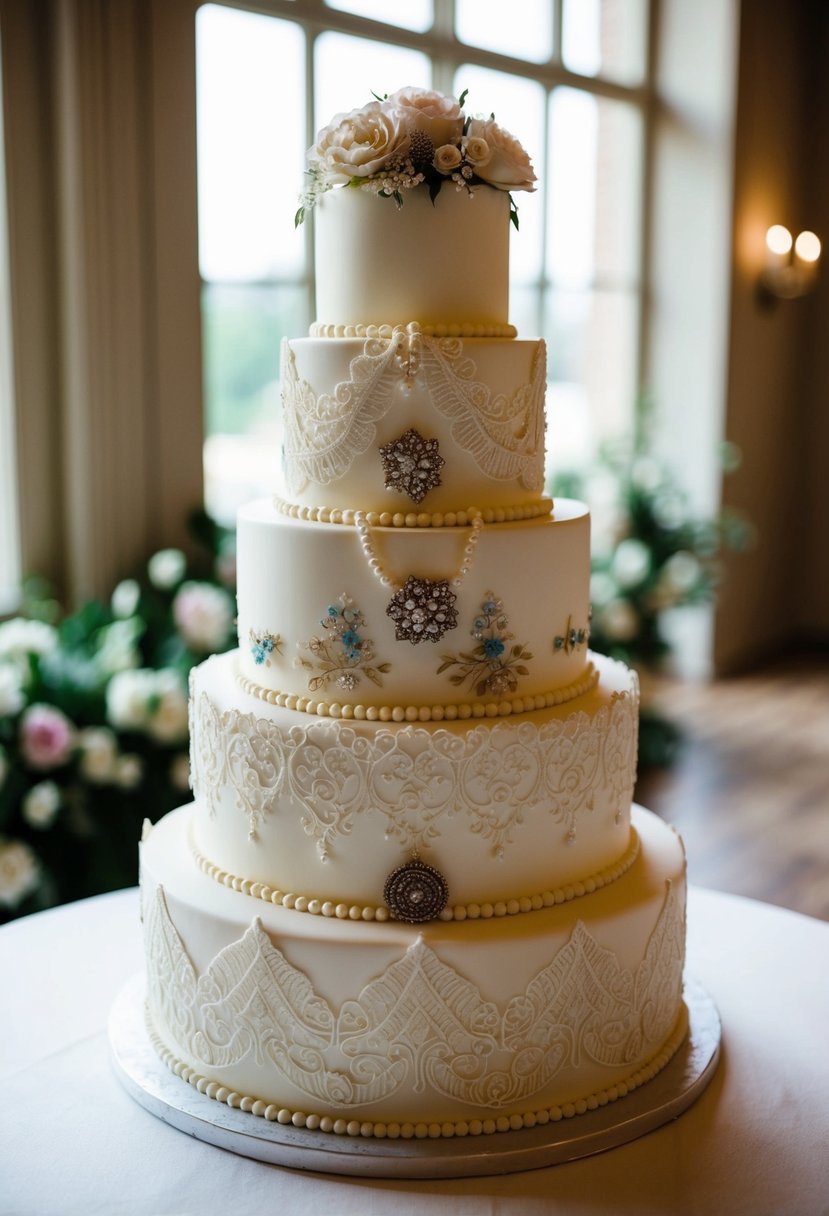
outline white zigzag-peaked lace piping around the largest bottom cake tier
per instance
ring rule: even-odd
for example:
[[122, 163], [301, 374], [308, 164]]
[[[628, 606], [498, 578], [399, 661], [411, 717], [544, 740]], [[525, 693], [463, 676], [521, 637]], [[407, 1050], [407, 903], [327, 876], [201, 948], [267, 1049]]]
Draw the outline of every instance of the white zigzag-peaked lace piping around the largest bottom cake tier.
[[429, 1091], [491, 1111], [532, 1099], [565, 1069], [641, 1064], [666, 1041], [681, 1006], [684, 906], [666, 883], [644, 956], [632, 969], [582, 922], [502, 1003], [422, 936], [339, 1008], [271, 941], [259, 918], [198, 975], [162, 888], [146, 897], [148, 1000], [191, 1068], [254, 1059], [263, 1090], [280, 1079], [311, 1102], [365, 1107]]

